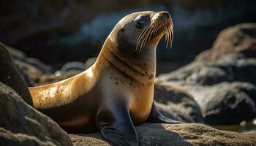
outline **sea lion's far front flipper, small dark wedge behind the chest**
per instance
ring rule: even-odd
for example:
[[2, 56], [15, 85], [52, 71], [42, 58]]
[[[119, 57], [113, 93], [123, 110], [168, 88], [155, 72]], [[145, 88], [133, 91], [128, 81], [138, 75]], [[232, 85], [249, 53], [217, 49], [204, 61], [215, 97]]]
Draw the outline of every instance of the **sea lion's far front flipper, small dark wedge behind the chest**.
[[172, 120], [163, 116], [158, 110], [156, 105], [152, 104], [151, 112], [146, 120], [148, 123], [182, 123], [178, 120]]

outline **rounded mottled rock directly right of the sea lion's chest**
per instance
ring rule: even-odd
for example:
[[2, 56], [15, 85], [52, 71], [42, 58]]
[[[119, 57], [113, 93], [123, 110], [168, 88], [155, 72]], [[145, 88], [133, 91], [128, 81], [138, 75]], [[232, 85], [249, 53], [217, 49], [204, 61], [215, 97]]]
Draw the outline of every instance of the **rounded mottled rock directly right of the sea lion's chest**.
[[162, 115], [186, 123], [204, 123], [200, 107], [186, 91], [167, 82], [156, 82], [154, 101]]

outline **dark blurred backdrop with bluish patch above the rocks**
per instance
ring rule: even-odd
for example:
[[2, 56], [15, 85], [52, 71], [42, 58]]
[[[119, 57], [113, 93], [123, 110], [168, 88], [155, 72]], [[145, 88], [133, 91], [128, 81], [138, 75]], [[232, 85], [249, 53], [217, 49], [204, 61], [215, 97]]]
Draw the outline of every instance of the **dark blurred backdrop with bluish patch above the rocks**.
[[[157, 50], [160, 72], [209, 49], [222, 29], [256, 21], [255, 0], [1, 0], [0, 42], [59, 68], [95, 57], [115, 24], [131, 12], [167, 10], [172, 50]], [[168, 66], [165, 64], [170, 63]], [[167, 68], [167, 69], [165, 69]]]

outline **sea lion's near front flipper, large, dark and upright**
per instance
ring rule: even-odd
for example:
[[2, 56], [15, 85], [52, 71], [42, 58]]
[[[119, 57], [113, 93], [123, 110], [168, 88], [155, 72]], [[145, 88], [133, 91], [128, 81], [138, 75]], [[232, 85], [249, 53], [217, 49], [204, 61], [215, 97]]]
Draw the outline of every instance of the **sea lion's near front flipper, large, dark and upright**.
[[100, 134], [111, 145], [138, 146], [138, 134], [129, 115], [129, 107], [118, 101], [99, 109], [97, 124]]

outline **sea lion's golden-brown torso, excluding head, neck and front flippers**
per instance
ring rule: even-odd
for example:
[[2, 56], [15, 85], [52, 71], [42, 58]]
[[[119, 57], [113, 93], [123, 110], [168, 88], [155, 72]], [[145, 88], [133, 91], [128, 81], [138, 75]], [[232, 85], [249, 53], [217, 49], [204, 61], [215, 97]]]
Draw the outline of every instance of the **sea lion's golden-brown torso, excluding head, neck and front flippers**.
[[[110, 43], [108, 41], [106, 43]], [[143, 123], [153, 103], [154, 75], [150, 74], [143, 82], [129, 77], [125, 71], [113, 65], [127, 67], [118, 58], [109, 55], [108, 59], [115, 61], [111, 64], [105, 57], [101, 57], [108, 51], [102, 49], [96, 63], [81, 74], [61, 82], [29, 88], [34, 106], [67, 131], [96, 131], [97, 109], [107, 99], [128, 102], [132, 121], [135, 125]]]

